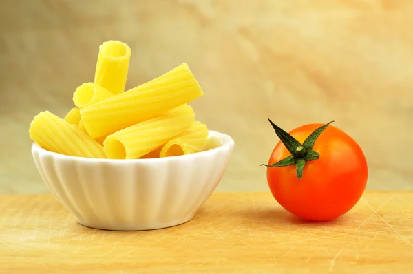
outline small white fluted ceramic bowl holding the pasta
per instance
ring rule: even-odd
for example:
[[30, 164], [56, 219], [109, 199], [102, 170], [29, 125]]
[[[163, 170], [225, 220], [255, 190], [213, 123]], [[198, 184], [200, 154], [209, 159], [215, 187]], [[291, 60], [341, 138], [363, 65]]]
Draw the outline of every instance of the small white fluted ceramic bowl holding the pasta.
[[77, 222], [132, 231], [193, 218], [224, 175], [234, 141], [209, 131], [208, 145], [213, 148], [196, 154], [136, 160], [65, 156], [35, 143], [32, 154], [43, 181]]

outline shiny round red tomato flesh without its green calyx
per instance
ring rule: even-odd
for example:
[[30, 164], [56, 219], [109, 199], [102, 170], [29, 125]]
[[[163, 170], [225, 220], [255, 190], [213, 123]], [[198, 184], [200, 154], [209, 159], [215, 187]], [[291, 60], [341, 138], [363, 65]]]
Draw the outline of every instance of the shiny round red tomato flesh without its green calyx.
[[[303, 125], [289, 134], [303, 144], [321, 126]], [[268, 185], [275, 200], [293, 215], [306, 220], [332, 220], [352, 209], [366, 189], [366, 157], [354, 139], [332, 125], [319, 135], [313, 150], [319, 158], [306, 162], [301, 179], [296, 176], [295, 165], [267, 167]], [[268, 165], [290, 155], [280, 141]]]

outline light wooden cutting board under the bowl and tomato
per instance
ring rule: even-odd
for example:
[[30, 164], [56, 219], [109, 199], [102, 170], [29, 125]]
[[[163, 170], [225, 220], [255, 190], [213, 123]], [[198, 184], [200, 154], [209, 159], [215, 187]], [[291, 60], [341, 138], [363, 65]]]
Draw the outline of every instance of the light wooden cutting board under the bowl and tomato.
[[368, 192], [333, 222], [270, 193], [214, 193], [156, 231], [81, 226], [52, 196], [0, 196], [0, 273], [413, 273], [413, 191]]

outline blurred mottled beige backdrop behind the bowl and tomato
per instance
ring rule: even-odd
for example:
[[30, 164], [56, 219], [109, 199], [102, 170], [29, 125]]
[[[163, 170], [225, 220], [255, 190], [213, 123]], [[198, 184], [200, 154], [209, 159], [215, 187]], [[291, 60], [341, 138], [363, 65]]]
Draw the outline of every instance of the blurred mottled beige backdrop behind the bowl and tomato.
[[0, 1], [0, 192], [47, 189], [32, 117], [63, 116], [98, 45], [132, 48], [127, 88], [187, 62], [198, 119], [235, 139], [219, 191], [267, 190], [285, 129], [335, 120], [361, 145], [369, 189], [413, 189], [413, 1]]

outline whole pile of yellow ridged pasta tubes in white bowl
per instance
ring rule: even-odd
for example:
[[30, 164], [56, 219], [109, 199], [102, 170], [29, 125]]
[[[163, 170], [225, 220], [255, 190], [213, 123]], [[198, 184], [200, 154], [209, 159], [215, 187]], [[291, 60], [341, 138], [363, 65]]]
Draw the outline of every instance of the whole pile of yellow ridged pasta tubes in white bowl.
[[125, 91], [131, 49], [120, 41], [100, 45], [93, 83], [73, 94], [64, 118], [45, 111], [30, 124], [43, 149], [85, 158], [137, 159], [202, 151], [207, 126], [195, 121], [190, 101], [204, 95], [186, 63]]

